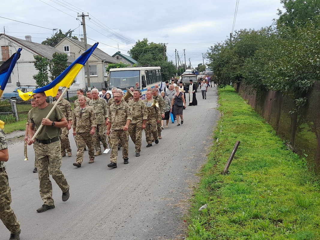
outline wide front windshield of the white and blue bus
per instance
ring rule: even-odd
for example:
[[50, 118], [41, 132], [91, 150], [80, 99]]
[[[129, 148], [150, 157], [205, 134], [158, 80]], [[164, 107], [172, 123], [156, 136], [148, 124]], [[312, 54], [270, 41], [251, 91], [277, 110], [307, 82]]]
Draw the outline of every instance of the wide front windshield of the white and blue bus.
[[127, 71], [110, 71], [109, 88], [130, 88], [134, 87], [136, 82], [140, 84], [140, 71], [127, 70]]

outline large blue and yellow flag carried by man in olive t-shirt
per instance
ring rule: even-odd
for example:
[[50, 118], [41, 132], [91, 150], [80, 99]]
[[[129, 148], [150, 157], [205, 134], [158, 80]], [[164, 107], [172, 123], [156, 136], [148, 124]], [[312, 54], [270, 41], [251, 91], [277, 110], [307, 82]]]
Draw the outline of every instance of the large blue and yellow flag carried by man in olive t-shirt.
[[45, 92], [45, 95], [55, 97], [57, 95], [59, 87], [69, 88], [76, 78], [81, 68], [85, 65], [92, 52], [96, 49], [99, 43], [95, 43], [91, 48], [81, 54], [66, 70], [64, 70], [56, 79], [54, 79], [50, 84], [37, 88], [33, 92], [19, 92], [20, 98], [28, 101], [34, 94]]

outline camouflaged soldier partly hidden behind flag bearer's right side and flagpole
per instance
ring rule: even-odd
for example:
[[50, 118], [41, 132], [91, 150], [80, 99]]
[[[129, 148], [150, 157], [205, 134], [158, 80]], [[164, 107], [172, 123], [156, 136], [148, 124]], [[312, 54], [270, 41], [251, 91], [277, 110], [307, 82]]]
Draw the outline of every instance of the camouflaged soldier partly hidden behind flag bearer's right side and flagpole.
[[[61, 89], [58, 90], [57, 95], [56, 95], [56, 100], [52, 102], [52, 104], [55, 104], [59, 97], [61, 96], [62, 91]], [[68, 152], [68, 157], [72, 156], [72, 151], [70, 148], [70, 142], [68, 138], [69, 130], [71, 129], [71, 123], [72, 123], [72, 111], [71, 111], [71, 105], [70, 103], [63, 99], [60, 100], [58, 103], [58, 107], [60, 108], [61, 112], [63, 115], [66, 117], [68, 121], [68, 127], [61, 128], [61, 156], [64, 157], [66, 156], [66, 150]]]

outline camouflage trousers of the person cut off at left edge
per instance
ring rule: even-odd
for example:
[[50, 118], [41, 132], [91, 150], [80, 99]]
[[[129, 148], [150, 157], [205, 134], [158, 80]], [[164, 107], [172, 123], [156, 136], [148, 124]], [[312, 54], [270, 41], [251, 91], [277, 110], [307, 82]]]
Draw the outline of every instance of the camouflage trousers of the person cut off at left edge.
[[11, 189], [7, 173], [0, 172], [0, 219], [11, 233], [20, 232], [20, 222], [14, 214], [11, 204]]

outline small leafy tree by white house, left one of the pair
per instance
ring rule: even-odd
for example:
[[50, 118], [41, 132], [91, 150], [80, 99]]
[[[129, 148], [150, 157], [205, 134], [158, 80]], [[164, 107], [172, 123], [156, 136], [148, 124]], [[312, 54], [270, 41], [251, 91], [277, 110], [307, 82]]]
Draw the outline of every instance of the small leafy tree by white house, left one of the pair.
[[44, 58], [40, 55], [35, 55], [35, 68], [38, 70], [36, 75], [33, 75], [33, 79], [36, 80], [36, 84], [38, 87], [43, 87], [49, 84], [49, 76], [48, 76], [48, 66], [49, 61], [47, 58]]

